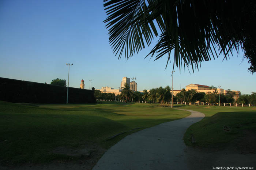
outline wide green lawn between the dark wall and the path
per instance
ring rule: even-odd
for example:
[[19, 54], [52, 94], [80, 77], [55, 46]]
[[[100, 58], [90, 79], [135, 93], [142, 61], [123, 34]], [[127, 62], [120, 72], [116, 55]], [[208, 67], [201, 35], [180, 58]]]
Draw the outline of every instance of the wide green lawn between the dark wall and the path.
[[[0, 101], [0, 162], [45, 163], [69, 159], [57, 147], [96, 144], [108, 149], [135, 131], [184, 118], [188, 111], [157, 104], [16, 104]], [[138, 127], [140, 129], [132, 130]], [[132, 130], [132, 131], [129, 131]], [[111, 140], [113, 135], [126, 132]]]

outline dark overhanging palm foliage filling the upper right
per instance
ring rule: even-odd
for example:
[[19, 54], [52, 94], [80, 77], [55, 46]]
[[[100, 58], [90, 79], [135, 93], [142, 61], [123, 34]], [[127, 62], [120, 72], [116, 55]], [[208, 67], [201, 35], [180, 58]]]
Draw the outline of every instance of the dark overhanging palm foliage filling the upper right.
[[[256, 72], [256, 1], [104, 0], [109, 43], [118, 59], [158, 43], [147, 56], [167, 55], [168, 62], [198, 69], [202, 61], [244, 51], [248, 71]], [[157, 28], [155, 25], [157, 25]], [[155, 41], [155, 40], [154, 40]], [[216, 46], [217, 45], [217, 46]], [[174, 57], [171, 59], [171, 51]], [[217, 54], [219, 50], [219, 54]], [[147, 57], [146, 56], [146, 57]], [[183, 63], [182, 63], [183, 62]], [[167, 67], [166, 64], [166, 67]]]

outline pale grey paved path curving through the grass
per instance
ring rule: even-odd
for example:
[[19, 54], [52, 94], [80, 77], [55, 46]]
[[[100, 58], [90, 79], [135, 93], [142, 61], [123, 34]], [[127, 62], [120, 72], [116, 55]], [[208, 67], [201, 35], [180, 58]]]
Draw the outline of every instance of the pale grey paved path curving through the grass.
[[188, 170], [183, 137], [188, 127], [203, 119], [204, 114], [187, 111], [192, 114], [186, 118], [128, 135], [112, 146], [93, 170]]

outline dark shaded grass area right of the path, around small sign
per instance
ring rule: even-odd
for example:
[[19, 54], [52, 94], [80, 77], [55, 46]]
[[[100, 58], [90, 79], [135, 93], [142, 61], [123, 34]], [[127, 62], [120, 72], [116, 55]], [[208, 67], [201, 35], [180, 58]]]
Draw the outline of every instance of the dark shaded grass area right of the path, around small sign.
[[[224, 131], [224, 126], [230, 127], [230, 132]], [[256, 112], [217, 112], [212, 116], [205, 117], [200, 122], [192, 124], [185, 133], [184, 141], [188, 146], [221, 148], [242, 137], [244, 131], [250, 131], [252, 132], [250, 134], [255, 134]], [[195, 143], [192, 142], [192, 135], [196, 140]]]

